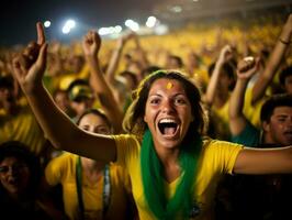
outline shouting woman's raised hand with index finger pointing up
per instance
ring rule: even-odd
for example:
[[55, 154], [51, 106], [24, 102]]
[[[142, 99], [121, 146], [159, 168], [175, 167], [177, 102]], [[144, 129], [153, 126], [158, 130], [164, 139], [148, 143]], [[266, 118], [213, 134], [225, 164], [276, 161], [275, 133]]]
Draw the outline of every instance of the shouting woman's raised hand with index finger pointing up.
[[42, 85], [46, 68], [46, 50], [44, 29], [41, 22], [36, 23], [37, 43], [31, 42], [22, 53], [12, 61], [13, 76], [24, 92], [31, 92]]

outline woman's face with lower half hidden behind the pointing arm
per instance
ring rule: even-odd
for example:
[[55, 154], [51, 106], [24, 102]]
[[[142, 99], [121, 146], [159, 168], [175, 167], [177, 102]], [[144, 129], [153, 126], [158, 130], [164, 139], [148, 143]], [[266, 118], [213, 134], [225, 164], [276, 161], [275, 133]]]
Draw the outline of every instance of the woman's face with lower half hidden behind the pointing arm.
[[79, 122], [79, 128], [89, 131], [91, 133], [99, 133], [99, 134], [110, 134], [111, 129], [106, 124], [106, 122], [99, 116], [94, 113], [88, 113], [82, 117]]

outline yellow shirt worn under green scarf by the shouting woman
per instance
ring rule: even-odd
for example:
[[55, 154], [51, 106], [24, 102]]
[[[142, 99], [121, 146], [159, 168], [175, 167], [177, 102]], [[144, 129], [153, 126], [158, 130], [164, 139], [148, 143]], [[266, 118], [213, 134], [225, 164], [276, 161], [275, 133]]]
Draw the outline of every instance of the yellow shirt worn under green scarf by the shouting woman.
[[[139, 219], [157, 219], [148, 209], [143, 193], [139, 142], [134, 135], [128, 134], [113, 135], [113, 138], [117, 146], [116, 164], [128, 170]], [[200, 207], [200, 215], [195, 219], [213, 219], [214, 196], [217, 183], [223, 174], [232, 174], [236, 157], [242, 147], [242, 145], [223, 141], [207, 140], [203, 142], [199, 158], [198, 176], [194, 179], [195, 191], [193, 198]], [[165, 184], [169, 198], [173, 196], [178, 183], [179, 178], [170, 184]]]

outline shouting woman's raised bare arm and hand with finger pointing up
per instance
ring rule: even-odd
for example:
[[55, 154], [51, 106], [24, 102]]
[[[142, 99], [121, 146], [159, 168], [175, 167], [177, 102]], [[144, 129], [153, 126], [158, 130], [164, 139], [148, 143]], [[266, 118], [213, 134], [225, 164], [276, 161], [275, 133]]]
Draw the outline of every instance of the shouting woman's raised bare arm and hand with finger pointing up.
[[56, 107], [46, 91], [42, 78], [46, 67], [47, 44], [42, 24], [38, 22], [36, 26], [37, 43], [29, 44], [25, 51], [13, 59], [13, 75], [46, 138], [57, 148], [106, 163], [115, 161], [114, 140], [80, 130]]

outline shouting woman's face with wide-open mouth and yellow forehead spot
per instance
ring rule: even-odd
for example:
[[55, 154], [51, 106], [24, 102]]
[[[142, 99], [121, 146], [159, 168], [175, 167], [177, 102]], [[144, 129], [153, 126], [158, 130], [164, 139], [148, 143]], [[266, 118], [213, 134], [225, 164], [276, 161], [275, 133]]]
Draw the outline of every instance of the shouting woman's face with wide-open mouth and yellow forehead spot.
[[181, 82], [161, 78], [154, 81], [144, 121], [147, 123], [156, 147], [177, 147], [193, 121], [191, 105]]

